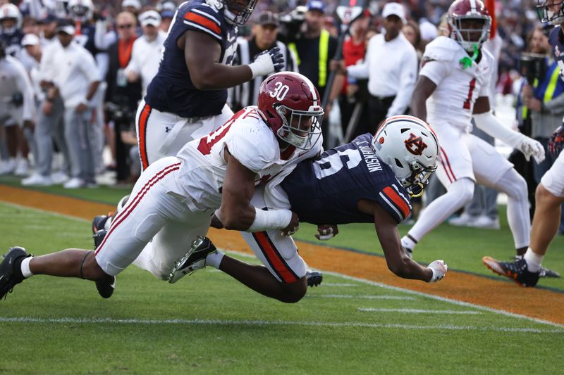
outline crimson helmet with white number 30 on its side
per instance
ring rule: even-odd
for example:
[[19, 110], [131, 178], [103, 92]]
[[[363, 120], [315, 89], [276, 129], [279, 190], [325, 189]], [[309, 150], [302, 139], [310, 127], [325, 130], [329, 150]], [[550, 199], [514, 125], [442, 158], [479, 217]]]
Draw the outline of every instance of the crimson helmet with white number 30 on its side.
[[308, 150], [321, 136], [324, 110], [312, 82], [295, 72], [279, 72], [260, 85], [258, 107], [274, 134]]

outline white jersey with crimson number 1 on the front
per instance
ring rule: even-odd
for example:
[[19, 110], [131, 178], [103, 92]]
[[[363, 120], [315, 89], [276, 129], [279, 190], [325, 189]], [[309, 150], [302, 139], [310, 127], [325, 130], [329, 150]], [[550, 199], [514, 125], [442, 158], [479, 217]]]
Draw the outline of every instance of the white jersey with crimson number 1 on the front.
[[494, 56], [482, 48], [479, 63], [466, 68], [462, 59], [468, 54], [448, 37], [438, 37], [427, 44], [420, 75], [436, 84], [427, 99], [429, 125], [450, 124], [470, 132], [472, 111], [480, 96], [489, 96], [489, 81], [494, 68]]

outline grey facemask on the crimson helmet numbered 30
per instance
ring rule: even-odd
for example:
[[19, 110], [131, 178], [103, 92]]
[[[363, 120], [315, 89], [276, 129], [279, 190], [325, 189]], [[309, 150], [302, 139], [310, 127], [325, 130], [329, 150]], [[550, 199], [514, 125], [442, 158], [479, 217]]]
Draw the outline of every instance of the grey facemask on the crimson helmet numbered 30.
[[309, 110], [295, 110], [278, 104], [275, 109], [282, 119], [282, 126], [276, 132], [278, 137], [302, 150], [309, 150], [317, 144], [321, 136], [323, 108], [310, 106]]

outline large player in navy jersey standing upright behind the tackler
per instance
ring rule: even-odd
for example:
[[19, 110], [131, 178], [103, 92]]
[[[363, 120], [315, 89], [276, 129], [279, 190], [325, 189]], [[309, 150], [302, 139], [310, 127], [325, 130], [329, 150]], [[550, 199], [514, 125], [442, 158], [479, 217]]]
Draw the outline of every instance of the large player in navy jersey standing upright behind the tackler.
[[176, 155], [192, 139], [213, 132], [233, 115], [227, 89], [284, 66], [278, 48], [249, 65], [231, 66], [237, 25], [257, 0], [190, 0], [178, 6], [164, 42], [159, 71], [135, 118], [142, 169]]

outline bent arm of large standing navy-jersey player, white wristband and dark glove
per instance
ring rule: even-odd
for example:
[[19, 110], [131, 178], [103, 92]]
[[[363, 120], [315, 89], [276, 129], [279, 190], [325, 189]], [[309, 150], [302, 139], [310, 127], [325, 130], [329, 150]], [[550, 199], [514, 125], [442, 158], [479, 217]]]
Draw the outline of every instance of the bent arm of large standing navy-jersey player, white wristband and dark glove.
[[199, 90], [228, 89], [259, 75], [279, 71], [284, 58], [276, 47], [261, 54], [250, 65], [221, 64], [221, 46], [214, 37], [203, 32], [187, 31], [178, 39], [184, 49], [186, 66], [192, 83]]

